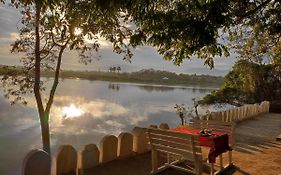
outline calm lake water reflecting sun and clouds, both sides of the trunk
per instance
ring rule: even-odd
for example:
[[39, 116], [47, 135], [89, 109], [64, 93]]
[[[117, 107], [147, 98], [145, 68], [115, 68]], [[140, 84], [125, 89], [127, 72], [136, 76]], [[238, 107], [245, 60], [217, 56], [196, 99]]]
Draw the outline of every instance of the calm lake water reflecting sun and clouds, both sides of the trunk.
[[[48, 83], [47, 83], [48, 84]], [[147, 127], [162, 122], [180, 123], [175, 104], [192, 105], [212, 89], [167, 87], [142, 84], [61, 80], [50, 116], [52, 153], [62, 144], [81, 150], [98, 144], [106, 134], [118, 136], [134, 126]], [[10, 106], [0, 96], [0, 175], [21, 174], [26, 153], [41, 148], [40, 125], [34, 97], [29, 104]]]

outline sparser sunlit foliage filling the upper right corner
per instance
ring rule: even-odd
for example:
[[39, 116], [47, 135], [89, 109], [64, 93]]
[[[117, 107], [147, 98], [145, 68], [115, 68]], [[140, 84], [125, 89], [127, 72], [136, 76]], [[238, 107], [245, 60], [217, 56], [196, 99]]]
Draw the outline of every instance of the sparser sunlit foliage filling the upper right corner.
[[240, 6], [237, 12], [248, 12], [237, 15], [239, 25], [235, 23], [228, 31], [238, 58], [257, 64], [280, 64], [281, 1], [244, 2]]

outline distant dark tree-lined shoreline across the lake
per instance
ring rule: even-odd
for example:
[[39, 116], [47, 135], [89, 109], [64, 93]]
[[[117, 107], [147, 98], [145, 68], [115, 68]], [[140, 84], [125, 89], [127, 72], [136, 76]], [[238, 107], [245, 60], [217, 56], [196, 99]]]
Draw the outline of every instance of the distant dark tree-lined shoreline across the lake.
[[[0, 75], [20, 74], [22, 67], [0, 66]], [[42, 72], [42, 77], [54, 77], [53, 71]], [[138, 83], [159, 86], [182, 87], [212, 87], [218, 88], [223, 83], [223, 77], [196, 74], [176, 74], [174, 72], [144, 69], [137, 72], [102, 72], [102, 71], [72, 71], [61, 70], [62, 79], [84, 79], [90, 81], [110, 81], [122, 83]]]

